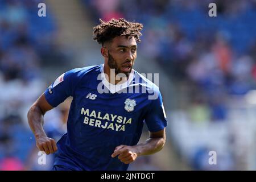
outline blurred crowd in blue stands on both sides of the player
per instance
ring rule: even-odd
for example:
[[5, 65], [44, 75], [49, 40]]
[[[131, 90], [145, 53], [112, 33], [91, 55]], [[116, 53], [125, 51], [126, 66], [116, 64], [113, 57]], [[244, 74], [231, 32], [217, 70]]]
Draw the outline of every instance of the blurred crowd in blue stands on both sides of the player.
[[[89, 11], [92, 24], [98, 23], [98, 18], [126, 18], [144, 24], [140, 54], [161, 65], [188, 96], [169, 122], [180, 158], [188, 160], [193, 169], [237, 169], [236, 164], [242, 163], [239, 160], [249, 154], [250, 147], [245, 144], [250, 131], [243, 126], [251, 125], [229, 122], [236, 114], [230, 105], [234, 96], [243, 97], [256, 86], [256, 2], [80, 2]], [[211, 2], [217, 4], [217, 17], [208, 16]], [[65, 59], [56, 59], [64, 55], [56, 42], [58, 28], [53, 13], [47, 9], [47, 17], [40, 18], [38, 3], [0, 0], [0, 170], [48, 170], [52, 162], [52, 156], [47, 156], [50, 163], [38, 165], [26, 114], [49, 84], [42, 78], [42, 67], [64, 64], [59, 61]], [[49, 137], [58, 139], [65, 132], [69, 102], [46, 114]], [[241, 150], [233, 151], [236, 147]], [[222, 162], [209, 167], [205, 163], [208, 150], [214, 149]], [[150, 160], [144, 158], [131, 168], [159, 169], [150, 168]], [[249, 168], [246, 164], [243, 167]]]

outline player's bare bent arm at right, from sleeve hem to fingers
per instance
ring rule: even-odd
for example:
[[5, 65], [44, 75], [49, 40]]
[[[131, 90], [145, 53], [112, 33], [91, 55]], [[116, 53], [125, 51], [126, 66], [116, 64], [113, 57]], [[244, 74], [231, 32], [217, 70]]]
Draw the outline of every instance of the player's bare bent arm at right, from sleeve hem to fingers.
[[159, 152], [164, 147], [166, 143], [166, 130], [165, 128], [156, 132], [149, 132], [150, 138], [145, 142], [137, 144], [135, 146], [121, 145], [115, 147], [112, 154], [112, 158], [118, 156], [118, 159], [125, 164], [134, 162], [138, 156], [150, 155], [155, 152]]

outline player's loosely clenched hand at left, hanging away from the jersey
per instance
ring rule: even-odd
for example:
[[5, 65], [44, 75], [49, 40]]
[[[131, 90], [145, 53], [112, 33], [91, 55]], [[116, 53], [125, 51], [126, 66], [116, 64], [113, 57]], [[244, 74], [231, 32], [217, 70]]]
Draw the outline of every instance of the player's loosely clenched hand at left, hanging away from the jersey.
[[48, 137], [36, 138], [36, 146], [40, 151], [46, 152], [47, 155], [57, 151], [57, 145], [54, 139]]

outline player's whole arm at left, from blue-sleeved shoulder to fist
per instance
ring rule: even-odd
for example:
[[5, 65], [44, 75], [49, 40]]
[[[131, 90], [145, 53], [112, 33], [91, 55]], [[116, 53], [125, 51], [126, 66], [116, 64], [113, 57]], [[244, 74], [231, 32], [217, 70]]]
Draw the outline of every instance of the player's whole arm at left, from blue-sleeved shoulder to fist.
[[[43, 117], [48, 110], [57, 107], [69, 96], [73, 96], [77, 82], [82, 78], [84, 69], [72, 69], [60, 75], [35, 101], [28, 111], [28, 123], [35, 135], [36, 146], [40, 151], [51, 154], [57, 150], [55, 140], [48, 138], [43, 129]], [[79, 77], [80, 75], [80, 77]]]

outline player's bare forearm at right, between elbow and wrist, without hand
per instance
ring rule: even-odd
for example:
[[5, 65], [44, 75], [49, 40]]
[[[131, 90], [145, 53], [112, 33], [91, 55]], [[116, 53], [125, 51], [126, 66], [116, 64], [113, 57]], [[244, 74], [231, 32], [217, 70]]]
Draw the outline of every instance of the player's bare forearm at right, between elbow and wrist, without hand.
[[150, 155], [159, 152], [164, 147], [165, 142], [165, 137], [149, 138], [145, 142], [135, 146], [137, 149], [137, 155]]

